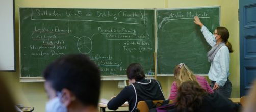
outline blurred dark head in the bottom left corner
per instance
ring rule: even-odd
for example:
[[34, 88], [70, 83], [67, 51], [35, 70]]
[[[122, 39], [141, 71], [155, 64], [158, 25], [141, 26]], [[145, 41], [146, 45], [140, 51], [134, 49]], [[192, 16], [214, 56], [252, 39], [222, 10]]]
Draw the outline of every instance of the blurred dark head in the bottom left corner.
[[[2, 74], [0, 74], [1, 76]], [[0, 77], [0, 111], [16, 112], [14, 100]]]

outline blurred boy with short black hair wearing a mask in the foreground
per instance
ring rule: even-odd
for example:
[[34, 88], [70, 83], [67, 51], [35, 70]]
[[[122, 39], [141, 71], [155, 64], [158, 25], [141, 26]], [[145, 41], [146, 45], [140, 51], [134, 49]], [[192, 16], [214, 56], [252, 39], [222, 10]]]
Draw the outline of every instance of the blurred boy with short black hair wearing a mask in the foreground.
[[87, 56], [66, 55], [43, 73], [47, 112], [98, 111], [100, 71]]

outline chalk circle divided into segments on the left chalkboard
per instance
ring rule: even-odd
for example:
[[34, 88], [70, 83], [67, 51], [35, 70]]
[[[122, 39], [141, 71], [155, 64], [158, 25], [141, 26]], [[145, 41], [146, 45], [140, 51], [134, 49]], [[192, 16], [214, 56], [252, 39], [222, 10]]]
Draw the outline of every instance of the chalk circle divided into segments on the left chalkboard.
[[92, 40], [89, 37], [80, 37], [77, 46], [80, 53], [88, 54], [92, 50]]

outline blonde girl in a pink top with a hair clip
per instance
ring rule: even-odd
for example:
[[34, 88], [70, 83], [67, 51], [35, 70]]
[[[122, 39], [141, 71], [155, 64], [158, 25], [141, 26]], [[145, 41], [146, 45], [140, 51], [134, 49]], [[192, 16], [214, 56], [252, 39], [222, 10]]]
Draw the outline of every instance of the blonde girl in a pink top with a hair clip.
[[194, 75], [184, 63], [180, 63], [175, 67], [174, 77], [176, 81], [174, 81], [171, 85], [171, 94], [168, 98], [169, 100], [175, 100], [177, 97], [178, 87], [180, 87], [181, 83], [185, 81], [197, 81], [204, 90], [210, 94], [213, 93], [213, 90], [209, 86], [206, 78], [203, 76]]

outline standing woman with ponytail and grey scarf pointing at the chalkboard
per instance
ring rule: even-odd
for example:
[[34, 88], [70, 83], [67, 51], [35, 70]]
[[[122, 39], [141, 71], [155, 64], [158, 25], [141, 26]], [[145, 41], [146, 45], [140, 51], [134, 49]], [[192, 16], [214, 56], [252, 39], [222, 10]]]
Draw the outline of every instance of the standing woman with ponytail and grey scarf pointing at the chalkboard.
[[229, 53], [233, 52], [231, 43], [228, 42], [229, 32], [225, 27], [217, 27], [213, 34], [204, 26], [200, 19], [194, 17], [194, 23], [201, 27], [201, 32], [206, 41], [212, 46], [207, 53], [211, 63], [208, 73], [212, 83], [212, 89], [225, 97], [230, 97], [232, 83], [229, 81]]

